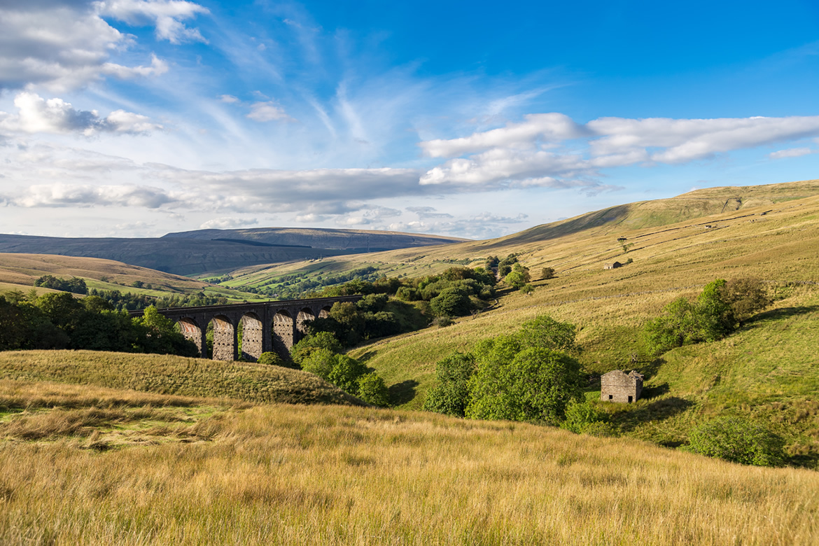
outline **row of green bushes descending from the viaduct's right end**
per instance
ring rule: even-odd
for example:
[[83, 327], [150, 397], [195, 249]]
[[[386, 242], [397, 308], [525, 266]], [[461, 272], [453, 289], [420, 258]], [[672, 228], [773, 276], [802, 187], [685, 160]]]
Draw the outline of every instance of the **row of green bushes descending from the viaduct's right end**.
[[390, 395], [382, 377], [351, 356], [342, 354], [342, 343], [330, 332], [307, 336], [290, 352], [296, 366], [358, 396], [368, 404], [387, 406]]

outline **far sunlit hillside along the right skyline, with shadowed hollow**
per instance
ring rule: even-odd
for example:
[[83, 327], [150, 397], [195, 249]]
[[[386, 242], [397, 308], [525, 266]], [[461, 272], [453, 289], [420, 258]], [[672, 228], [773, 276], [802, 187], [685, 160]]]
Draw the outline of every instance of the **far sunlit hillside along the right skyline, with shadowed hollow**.
[[[579, 247], [586, 246], [586, 240], [590, 237], [609, 237], [609, 241], [614, 241], [617, 237], [628, 237], [635, 230], [640, 230], [637, 232], [639, 234], [653, 231], [651, 228], [662, 229], [662, 226], [672, 223], [707, 223], [704, 217], [711, 214], [739, 216], [746, 214], [746, 210], [765, 211], [772, 205], [816, 195], [819, 195], [819, 180], [750, 187], [713, 187], [671, 199], [618, 205], [487, 241], [337, 256], [320, 262], [310, 260], [240, 268], [232, 272], [234, 279], [225, 285], [258, 286], [261, 282], [292, 273], [315, 278], [365, 266], [376, 267], [389, 277], [420, 277], [452, 267], [453, 259], [473, 259], [471, 265], [474, 267], [482, 265], [488, 255], [502, 257], [512, 252], [523, 253], [529, 267], [550, 265], [559, 268], [561, 263], [556, 262], [551, 253], [561, 249], [577, 251]], [[764, 208], [759, 210], [759, 207]], [[609, 247], [606, 255], [617, 257], [619, 246], [612, 244]], [[581, 260], [581, 263], [585, 261]]]

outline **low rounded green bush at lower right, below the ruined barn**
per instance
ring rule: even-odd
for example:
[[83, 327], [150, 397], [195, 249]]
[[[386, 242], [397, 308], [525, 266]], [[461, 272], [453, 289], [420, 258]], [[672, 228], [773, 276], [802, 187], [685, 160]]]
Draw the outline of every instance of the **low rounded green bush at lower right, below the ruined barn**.
[[779, 467], [785, 459], [781, 436], [740, 417], [717, 417], [696, 426], [690, 431], [687, 449], [758, 467]]

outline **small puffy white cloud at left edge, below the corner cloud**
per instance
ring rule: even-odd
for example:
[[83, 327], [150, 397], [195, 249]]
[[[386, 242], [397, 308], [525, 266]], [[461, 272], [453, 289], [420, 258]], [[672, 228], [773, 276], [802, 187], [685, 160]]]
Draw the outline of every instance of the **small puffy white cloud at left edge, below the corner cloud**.
[[81, 111], [60, 98], [44, 99], [37, 93], [19, 93], [14, 99], [17, 114], [0, 112], [0, 129], [21, 133], [138, 134], [162, 129], [144, 115], [123, 110], [101, 118], [97, 111]]

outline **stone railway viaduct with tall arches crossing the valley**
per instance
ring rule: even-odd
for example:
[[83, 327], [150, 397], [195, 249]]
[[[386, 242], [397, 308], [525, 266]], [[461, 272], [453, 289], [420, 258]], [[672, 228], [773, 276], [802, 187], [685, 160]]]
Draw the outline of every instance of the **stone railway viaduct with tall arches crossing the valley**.
[[[161, 315], [179, 323], [183, 336], [197, 345], [202, 356], [207, 354], [207, 325], [213, 322], [214, 360], [238, 360], [238, 330], [241, 324], [241, 356], [256, 361], [260, 354], [268, 351], [287, 356], [290, 348], [305, 335], [306, 321], [327, 316], [338, 301], [360, 299], [361, 296], [338, 296], [158, 310]], [[142, 310], [130, 312], [132, 317], [142, 314]]]

